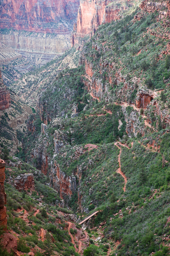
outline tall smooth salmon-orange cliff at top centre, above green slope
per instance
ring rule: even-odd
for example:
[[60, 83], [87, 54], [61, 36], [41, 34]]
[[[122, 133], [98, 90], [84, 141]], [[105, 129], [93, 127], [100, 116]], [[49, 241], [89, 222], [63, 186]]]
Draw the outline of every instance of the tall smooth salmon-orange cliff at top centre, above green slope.
[[85, 35], [94, 34], [102, 23], [120, 19], [119, 12], [125, 8], [126, 5], [120, 7], [120, 4], [117, 5], [111, 0], [80, 0], [77, 24], [74, 25], [71, 35], [71, 45], [79, 44]]

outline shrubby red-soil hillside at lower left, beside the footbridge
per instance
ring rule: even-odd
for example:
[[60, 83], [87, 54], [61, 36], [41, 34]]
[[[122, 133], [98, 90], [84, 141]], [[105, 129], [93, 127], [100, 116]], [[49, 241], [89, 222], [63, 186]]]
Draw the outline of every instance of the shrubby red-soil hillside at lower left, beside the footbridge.
[[78, 256], [79, 240], [86, 237], [82, 250], [88, 235], [72, 211], [58, 206], [61, 199], [48, 186], [49, 178], [16, 157], [8, 157], [6, 163], [8, 230], [1, 229], [1, 255]]

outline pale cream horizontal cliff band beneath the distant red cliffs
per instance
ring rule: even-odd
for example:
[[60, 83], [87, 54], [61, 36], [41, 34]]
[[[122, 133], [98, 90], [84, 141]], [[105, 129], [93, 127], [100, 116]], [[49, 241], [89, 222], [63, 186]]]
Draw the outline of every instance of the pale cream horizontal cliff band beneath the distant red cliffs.
[[4, 32], [1, 30], [0, 33], [0, 43], [14, 48], [22, 55], [22, 52], [39, 53], [39, 55], [42, 53], [46, 55], [62, 53], [70, 47], [69, 38], [70, 34], [65, 32], [63, 34], [46, 34], [17, 30]]

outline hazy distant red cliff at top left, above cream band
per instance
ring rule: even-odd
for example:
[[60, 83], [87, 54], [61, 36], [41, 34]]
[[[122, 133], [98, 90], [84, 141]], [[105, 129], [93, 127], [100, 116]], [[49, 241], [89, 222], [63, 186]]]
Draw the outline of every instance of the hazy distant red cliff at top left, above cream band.
[[0, 28], [67, 33], [65, 21], [74, 22], [78, 6], [79, 0], [2, 0]]

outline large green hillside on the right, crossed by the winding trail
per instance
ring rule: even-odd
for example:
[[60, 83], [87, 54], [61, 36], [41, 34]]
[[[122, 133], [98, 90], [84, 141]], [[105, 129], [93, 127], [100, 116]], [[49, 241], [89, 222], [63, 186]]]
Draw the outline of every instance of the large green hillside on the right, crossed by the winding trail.
[[101, 25], [51, 76], [18, 152], [79, 219], [101, 210], [84, 255], [169, 255], [169, 7], [154, 6]]

